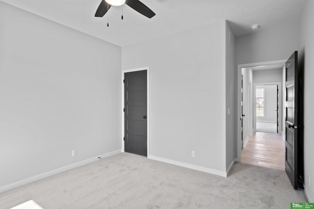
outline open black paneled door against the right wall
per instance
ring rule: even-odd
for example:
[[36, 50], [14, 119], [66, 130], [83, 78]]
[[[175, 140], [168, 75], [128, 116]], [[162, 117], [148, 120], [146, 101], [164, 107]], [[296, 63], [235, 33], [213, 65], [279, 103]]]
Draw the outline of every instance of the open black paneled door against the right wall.
[[286, 173], [292, 186], [303, 187], [303, 154], [301, 149], [300, 90], [298, 53], [295, 51], [286, 62]]

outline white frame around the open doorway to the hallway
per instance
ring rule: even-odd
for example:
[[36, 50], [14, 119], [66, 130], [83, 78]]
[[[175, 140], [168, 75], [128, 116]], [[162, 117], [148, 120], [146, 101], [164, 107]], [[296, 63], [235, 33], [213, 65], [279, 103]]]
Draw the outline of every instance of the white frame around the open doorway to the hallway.
[[[235, 130], [236, 130], [236, 162], [241, 162], [241, 149], [242, 149], [242, 142], [241, 142], [241, 75], [242, 75], [242, 68], [252, 68], [257, 66], [267, 66], [267, 65], [276, 65], [276, 64], [285, 64], [287, 60], [275, 60], [275, 61], [268, 61], [268, 62], [258, 62], [258, 63], [249, 63], [249, 64], [241, 64], [237, 65], [237, 88], [236, 88], [236, 95], [237, 95], [237, 102], [236, 102], [236, 112], [237, 115], [235, 117]], [[254, 102], [253, 102], [254, 103]]]

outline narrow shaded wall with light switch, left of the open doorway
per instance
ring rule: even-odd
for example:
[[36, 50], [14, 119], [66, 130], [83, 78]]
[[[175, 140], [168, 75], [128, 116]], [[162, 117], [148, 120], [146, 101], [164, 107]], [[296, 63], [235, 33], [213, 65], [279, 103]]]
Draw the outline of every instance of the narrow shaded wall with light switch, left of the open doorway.
[[[226, 167], [235, 160], [235, 46], [230, 40], [230, 27], [226, 22]], [[229, 109], [229, 115], [228, 115]]]

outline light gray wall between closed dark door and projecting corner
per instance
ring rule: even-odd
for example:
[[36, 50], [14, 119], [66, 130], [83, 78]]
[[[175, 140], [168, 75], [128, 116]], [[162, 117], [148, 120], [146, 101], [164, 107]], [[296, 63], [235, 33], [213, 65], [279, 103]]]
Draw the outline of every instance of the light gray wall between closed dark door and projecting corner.
[[225, 30], [219, 21], [122, 48], [122, 69], [150, 67], [151, 158], [226, 171]]

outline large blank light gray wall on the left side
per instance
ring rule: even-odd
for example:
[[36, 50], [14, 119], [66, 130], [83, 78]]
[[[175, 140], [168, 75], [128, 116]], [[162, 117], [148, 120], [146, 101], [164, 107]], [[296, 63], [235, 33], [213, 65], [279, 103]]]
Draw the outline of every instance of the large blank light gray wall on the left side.
[[121, 47], [3, 2], [0, 14], [1, 188], [121, 149]]

